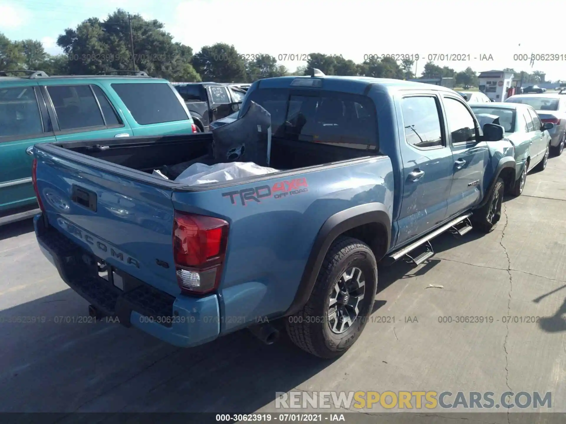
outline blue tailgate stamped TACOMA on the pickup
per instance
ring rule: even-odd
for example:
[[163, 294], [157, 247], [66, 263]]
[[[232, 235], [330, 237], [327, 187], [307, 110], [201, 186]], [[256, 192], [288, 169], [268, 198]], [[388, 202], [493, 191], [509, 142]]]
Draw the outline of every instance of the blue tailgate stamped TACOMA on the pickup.
[[51, 226], [106, 264], [179, 293], [172, 188], [157, 178], [152, 184], [153, 177], [104, 171], [91, 158], [53, 146], [36, 148], [36, 158], [37, 189]]

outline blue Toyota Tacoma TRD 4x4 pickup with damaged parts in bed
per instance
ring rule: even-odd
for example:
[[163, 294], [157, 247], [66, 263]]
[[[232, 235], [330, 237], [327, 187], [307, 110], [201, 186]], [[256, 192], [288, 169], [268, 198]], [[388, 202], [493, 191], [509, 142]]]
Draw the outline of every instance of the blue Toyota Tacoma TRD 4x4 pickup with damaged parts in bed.
[[335, 357], [371, 314], [378, 261], [418, 264], [444, 231], [491, 231], [516, 180], [503, 127], [479, 128], [442, 86], [263, 79], [215, 131], [257, 105], [278, 171], [245, 179], [152, 175], [218, 162], [215, 132], [35, 146], [38, 243], [93, 315], [182, 347], [246, 327], [272, 343], [284, 318], [295, 344]]

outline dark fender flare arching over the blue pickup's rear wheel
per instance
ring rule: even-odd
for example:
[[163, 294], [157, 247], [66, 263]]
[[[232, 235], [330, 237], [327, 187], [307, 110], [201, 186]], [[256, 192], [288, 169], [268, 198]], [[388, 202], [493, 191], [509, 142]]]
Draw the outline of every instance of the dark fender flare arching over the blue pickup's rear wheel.
[[[315, 285], [324, 257], [336, 238], [345, 231], [369, 223], [379, 223], [385, 227], [387, 232], [386, 246], [389, 247], [389, 243], [391, 243], [391, 217], [389, 217], [387, 207], [384, 204], [372, 202], [353, 206], [325, 220], [312, 244], [311, 253], [308, 256], [297, 293], [295, 293], [293, 302], [285, 311], [284, 316], [293, 315], [305, 306]], [[379, 261], [379, 258], [376, 259]]]

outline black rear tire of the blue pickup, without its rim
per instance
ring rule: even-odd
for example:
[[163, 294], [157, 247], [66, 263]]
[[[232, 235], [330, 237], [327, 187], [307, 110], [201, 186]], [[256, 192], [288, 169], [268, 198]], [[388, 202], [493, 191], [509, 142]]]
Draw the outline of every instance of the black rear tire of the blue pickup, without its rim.
[[[355, 266], [365, 278], [364, 297], [357, 318], [342, 334], [329, 326], [328, 308], [336, 283], [350, 267]], [[328, 249], [314, 287], [303, 308], [285, 318], [289, 338], [299, 348], [320, 358], [344, 354], [358, 339], [372, 313], [378, 283], [375, 256], [369, 246], [358, 239], [339, 236]]]

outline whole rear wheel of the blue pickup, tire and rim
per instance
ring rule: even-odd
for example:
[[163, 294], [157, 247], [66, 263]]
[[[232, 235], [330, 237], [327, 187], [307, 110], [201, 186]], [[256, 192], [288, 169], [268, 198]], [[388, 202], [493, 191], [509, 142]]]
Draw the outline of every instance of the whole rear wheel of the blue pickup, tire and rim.
[[306, 305], [286, 318], [290, 339], [321, 358], [345, 353], [372, 312], [377, 277], [371, 249], [360, 240], [338, 237], [324, 258]]

